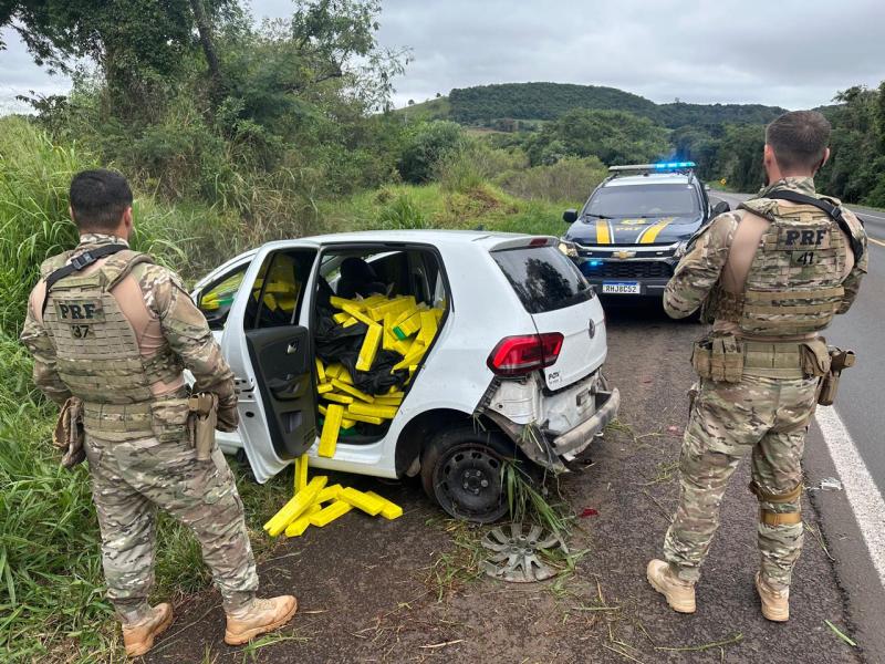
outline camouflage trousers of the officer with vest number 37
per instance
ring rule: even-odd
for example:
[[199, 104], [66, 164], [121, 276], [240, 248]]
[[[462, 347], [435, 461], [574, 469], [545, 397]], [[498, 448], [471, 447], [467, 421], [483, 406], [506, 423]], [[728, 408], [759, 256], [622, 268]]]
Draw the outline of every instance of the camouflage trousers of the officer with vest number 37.
[[220, 449], [199, 461], [185, 440], [107, 442], [87, 435], [86, 456], [107, 596], [124, 621], [148, 608], [158, 507], [197, 536], [225, 609], [251, 601], [258, 590], [254, 558], [242, 501]]

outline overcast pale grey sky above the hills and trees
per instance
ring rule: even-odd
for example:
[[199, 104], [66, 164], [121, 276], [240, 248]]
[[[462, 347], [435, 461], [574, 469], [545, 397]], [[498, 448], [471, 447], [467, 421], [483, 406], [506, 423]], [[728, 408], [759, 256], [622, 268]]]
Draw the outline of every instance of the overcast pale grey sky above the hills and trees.
[[[287, 17], [289, 0], [252, 0]], [[487, 83], [611, 85], [655, 102], [816, 106], [885, 80], [885, 1], [383, 0], [379, 42], [409, 46], [397, 106]], [[0, 110], [15, 94], [63, 93], [11, 31]]]

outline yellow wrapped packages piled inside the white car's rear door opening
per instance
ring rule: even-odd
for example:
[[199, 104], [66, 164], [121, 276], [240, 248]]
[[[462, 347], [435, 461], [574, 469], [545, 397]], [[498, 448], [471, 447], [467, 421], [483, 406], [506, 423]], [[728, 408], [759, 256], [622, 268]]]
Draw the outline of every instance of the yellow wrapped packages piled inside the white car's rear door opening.
[[[408, 378], [418, 369], [427, 349], [430, 347], [442, 318], [441, 308], [417, 304], [415, 298], [372, 295], [363, 300], [331, 298], [332, 307], [341, 313], [335, 322], [344, 328], [364, 323], [368, 330], [363, 339], [356, 371], [371, 371], [378, 349], [395, 351], [403, 360], [395, 364], [392, 373], [407, 370]], [[366, 394], [353, 385], [353, 377], [340, 363], [327, 366], [316, 360], [319, 378], [316, 391], [326, 402], [319, 406], [324, 417], [317, 454], [332, 457], [341, 435], [352, 429], [357, 422], [381, 425], [396, 417], [405, 393], [391, 387], [383, 394]]]

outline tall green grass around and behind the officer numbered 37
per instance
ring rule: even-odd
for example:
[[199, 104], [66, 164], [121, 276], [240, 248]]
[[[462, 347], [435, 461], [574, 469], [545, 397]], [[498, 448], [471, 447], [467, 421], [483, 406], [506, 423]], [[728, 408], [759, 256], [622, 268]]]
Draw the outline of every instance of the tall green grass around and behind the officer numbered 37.
[[[23, 118], [0, 118], [2, 662], [116, 658], [88, 474], [85, 466], [72, 473], [60, 467], [49, 443], [55, 408], [31, 383], [31, 360], [17, 340], [40, 262], [76, 243], [67, 214], [71, 177], [96, 165], [76, 144], [54, 144]], [[135, 247], [186, 274], [214, 267], [250, 237], [240, 232], [237, 216], [206, 206], [175, 208], [136, 191], [134, 207]], [[243, 484], [259, 533], [257, 523], [272, 513], [268, 502], [278, 507], [289, 487], [282, 479], [260, 491]], [[158, 539], [158, 593], [205, 588], [209, 577], [190, 533], [163, 519]], [[262, 539], [258, 551], [266, 548]]]

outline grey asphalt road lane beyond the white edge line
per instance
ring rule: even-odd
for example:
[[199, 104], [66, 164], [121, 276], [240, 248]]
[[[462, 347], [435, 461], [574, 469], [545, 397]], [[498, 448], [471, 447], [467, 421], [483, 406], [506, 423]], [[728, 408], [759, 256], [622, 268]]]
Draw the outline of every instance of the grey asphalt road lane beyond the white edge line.
[[[747, 194], [712, 191], [732, 209]], [[842, 375], [835, 405], [857, 446], [870, 474], [885, 494], [885, 211], [850, 205], [865, 222], [870, 236], [870, 272], [851, 311], [836, 317], [826, 332], [827, 341], [853, 349], [857, 364]]]

